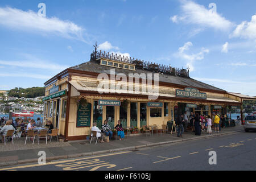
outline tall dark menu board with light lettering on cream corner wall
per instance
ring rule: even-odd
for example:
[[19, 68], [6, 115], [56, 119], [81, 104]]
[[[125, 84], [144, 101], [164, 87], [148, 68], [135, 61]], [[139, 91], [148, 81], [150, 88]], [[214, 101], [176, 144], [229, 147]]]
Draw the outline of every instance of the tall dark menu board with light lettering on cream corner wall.
[[90, 127], [90, 113], [92, 104], [88, 103], [86, 107], [79, 105], [77, 110], [76, 127]]

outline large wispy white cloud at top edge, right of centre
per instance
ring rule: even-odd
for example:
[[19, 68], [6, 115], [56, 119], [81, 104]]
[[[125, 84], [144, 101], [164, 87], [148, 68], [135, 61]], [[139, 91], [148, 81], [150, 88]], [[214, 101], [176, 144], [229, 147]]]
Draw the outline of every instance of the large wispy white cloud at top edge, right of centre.
[[[189, 24], [197, 24], [200, 27], [214, 28], [221, 31], [229, 31], [234, 26], [232, 22], [226, 20], [220, 14], [208, 10], [204, 6], [193, 1], [182, 1], [181, 16], [172, 16], [172, 22], [184, 22]], [[202, 29], [203, 30], [203, 29]]]

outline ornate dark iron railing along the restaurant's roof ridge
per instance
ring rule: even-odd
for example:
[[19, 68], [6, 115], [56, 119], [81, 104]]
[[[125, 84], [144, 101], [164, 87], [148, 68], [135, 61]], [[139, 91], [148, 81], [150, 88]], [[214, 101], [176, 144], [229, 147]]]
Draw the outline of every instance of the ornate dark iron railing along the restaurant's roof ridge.
[[141, 61], [138, 59], [133, 59], [131, 57], [125, 57], [121, 55], [117, 55], [114, 53], [107, 53], [107, 52], [101, 52], [101, 51], [93, 51], [93, 53], [90, 55], [91, 60], [96, 60], [96, 59], [108, 59], [108, 60], [114, 60], [114, 61], [119, 61], [121, 63], [129, 63], [136, 65], [136, 68], [141, 68], [141, 69], [147, 69], [150, 71], [155, 71], [158, 73], [167, 73], [169, 75], [174, 75], [174, 76], [183, 76], [183, 77], [189, 77], [189, 70], [188, 69], [179, 69], [179, 68], [174, 68], [171, 67], [170, 65], [163, 65], [163, 64], [155, 64], [155, 63], [150, 63], [149, 61]]

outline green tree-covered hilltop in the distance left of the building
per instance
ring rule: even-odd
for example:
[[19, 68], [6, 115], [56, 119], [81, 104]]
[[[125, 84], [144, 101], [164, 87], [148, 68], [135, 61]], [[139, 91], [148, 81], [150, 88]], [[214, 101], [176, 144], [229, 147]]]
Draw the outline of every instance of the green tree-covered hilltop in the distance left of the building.
[[9, 97], [25, 97], [25, 98], [35, 98], [44, 96], [45, 88], [44, 87], [32, 87], [32, 88], [17, 88], [11, 89], [9, 91]]

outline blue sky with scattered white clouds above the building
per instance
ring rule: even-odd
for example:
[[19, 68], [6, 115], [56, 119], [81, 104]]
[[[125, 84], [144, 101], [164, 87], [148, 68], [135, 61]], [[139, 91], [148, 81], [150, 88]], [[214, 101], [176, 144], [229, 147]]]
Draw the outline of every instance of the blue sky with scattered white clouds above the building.
[[255, 0], [1, 0], [0, 90], [44, 86], [89, 61], [96, 41], [256, 96]]

